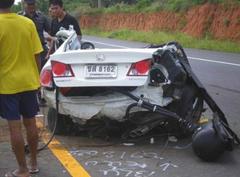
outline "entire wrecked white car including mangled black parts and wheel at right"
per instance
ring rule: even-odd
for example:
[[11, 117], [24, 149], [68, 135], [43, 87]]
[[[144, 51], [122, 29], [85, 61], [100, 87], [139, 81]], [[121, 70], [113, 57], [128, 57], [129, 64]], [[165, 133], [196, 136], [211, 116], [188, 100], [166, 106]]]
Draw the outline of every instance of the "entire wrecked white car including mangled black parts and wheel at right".
[[[158, 128], [192, 136], [194, 152], [207, 161], [239, 144], [177, 42], [81, 50], [76, 34], [66, 33], [68, 38], [41, 71], [50, 130], [66, 133], [78, 125], [79, 130], [96, 132], [96, 127], [117, 127], [122, 138], [136, 138]], [[213, 117], [203, 125], [199, 120], [204, 104]]]

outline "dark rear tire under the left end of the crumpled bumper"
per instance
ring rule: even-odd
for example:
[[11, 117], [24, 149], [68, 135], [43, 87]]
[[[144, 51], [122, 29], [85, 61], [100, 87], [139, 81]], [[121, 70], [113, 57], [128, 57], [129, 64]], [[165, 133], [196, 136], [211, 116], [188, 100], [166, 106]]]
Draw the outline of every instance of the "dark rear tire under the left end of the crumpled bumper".
[[57, 113], [55, 108], [49, 108], [47, 121], [48, 121], [48, 129], [53, 132], [55, 121], [57, 119], [57, 125], [54, 134], [56, 135], [68, 135], [73, 126], [73, 122], [70, 118], [65, 115]]

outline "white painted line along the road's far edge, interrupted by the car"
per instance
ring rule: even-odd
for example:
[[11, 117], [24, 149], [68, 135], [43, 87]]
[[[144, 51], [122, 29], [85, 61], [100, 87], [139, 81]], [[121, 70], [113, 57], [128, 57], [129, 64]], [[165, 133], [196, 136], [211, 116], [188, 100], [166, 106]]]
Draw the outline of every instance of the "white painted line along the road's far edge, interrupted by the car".
[[[119, 47], [119, 48], [124, 48], [124, 49], [129, 48], [129, 47], [121, 46], [121, 45], [114, 45], [114, 44], [108, 44], [108, 43], [96, 42], [96, 41], [90, 41], [90, 40], [88, 40], [88, 41], [92, 42], [92, 43], [96, 43], [96, 44], [111, 46], [111, 47]], [[237, 64], [237, 63], [230, 63], [230, 62], [217, 61], [217, 60], [209, 60], [209, 59], [205, 59], [205, 58], [196, 58], [196, 57], [188, 57], [188, 58], [191, 59], [191, 60], [205, 61], [205, 62], [210, 62], [210, 63], [218, 63], [218, 64], [224, 64], [224, 65], [231, 65], [231, 66], [238, 66], [238, 67], [240, 67], [240, 64]]]

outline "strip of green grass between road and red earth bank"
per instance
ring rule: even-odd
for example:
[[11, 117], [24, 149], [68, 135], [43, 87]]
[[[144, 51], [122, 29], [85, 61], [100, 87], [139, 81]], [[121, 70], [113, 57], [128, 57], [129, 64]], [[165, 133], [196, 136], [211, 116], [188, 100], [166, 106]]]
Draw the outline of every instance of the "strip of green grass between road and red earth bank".
[[152, 44], [162, 44], [170, 41], [178, 41], [184, 48], [206, 49], [221, 52], [240, 53], [240, 43], [227, 40], [199, 39], [184, 33], [168, 33], [162, 31], [140, 32], [134, 30], [102, 31], [97, 28], [84, 29], [86, 35], [102, 36], [129, 41], [139, 41]]

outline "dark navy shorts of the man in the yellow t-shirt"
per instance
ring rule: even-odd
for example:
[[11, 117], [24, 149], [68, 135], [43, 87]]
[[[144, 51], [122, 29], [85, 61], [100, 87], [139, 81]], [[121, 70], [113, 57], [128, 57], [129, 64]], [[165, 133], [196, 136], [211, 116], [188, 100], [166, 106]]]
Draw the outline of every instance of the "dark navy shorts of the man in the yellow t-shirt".
[[37, 91], [0, 94], [0, 115], [4, 119], [33, 118], [38, 111]]

